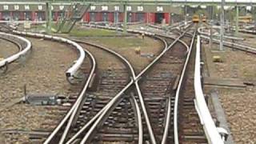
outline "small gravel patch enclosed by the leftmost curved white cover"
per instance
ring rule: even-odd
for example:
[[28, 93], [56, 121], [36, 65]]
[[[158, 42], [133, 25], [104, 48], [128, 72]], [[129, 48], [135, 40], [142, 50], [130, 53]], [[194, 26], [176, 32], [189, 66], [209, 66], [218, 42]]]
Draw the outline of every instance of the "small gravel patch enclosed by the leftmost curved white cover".
[[14, 43], [0, 38], [0, 58], [7, 58], [8, 56], [18, 52], [18, 46]]

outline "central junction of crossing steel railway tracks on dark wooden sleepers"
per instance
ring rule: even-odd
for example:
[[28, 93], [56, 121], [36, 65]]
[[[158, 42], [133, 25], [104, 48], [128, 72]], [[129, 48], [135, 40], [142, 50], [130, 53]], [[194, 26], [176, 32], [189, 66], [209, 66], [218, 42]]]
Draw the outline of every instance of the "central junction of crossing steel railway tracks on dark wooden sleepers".
[[[126, 58], [113, 50], [81, 42], [114, 54], [126, 68], [110, 68], [102, 73], [97, 93], [88, 93], [88, 86], [95, 77], [96, 62], [91, 49], [86, 49], [92, 63], [90, 74], [85, 85], [79, 87], [82, 91], [70, 99], [73, 106], [44, 143], [164, 144], [186, 143], [187, 139], [190, 139], [187, 143], [206, 142], [198, 115], [193, 109], [191, 71], [195, 32], [191, 38], [184, 38], [189, 34], [186, 30], [169, 45], [163, 39], [170, 37], [158, 37], [165, 43], [165, 49], [139, 74], [135, 74]], [[177, 117], [182, 121], [178, 121]], [[184, 124], [185, 118], [189, 125]], [[198, 131], [191, 132], [191, 128]]]

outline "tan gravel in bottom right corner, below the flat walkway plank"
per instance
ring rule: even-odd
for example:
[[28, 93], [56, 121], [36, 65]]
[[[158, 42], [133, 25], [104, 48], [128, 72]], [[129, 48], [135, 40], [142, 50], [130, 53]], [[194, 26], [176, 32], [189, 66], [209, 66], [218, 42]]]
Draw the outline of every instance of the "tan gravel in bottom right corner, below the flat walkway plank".
[[235, 143], [256, 142], [256, 90], [219, 90]]

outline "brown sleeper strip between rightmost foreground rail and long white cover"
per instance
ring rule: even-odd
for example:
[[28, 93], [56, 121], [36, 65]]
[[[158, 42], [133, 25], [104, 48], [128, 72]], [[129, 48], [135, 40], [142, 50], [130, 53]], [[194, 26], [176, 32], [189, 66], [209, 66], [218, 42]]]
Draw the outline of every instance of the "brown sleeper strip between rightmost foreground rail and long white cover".
[[[186, 68], [181, 83], [177, 107], [178, 141], [181, 143], [207, 143], [197, 110], [194, 106], [194, 62], [195, 62], [195, 34], [190, 43], [190, 57], [187, 58]], [[176, 118], [174, 118], [176, 119]], [[176, 123], [176, 122], [174, 122]]]

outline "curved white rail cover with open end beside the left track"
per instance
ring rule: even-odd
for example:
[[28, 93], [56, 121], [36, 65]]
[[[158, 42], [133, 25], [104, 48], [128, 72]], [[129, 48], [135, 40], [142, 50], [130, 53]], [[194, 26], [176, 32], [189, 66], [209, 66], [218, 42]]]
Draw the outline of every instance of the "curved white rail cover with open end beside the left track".
[[73, 42], [68, 38], [61, 38], [61, 37], [58, 37], [58, 36], [52, 36], [52, 35], [47, 35], [47, 34], [37, 34], [37, 33], [31, 33], [31, 32], [23, 32], [23, 31], [21, 32], [21, 31], [17, 31], [17, 30], [13, 30], [13, 32], [15, 34], [33, 36], [33, 37], [37, 37], [37, 38], [47, 38], [47, 39], [55, 40], [55, 41], [58, 41], [58, 42], [65, 42], [65, 43], [68, 43], [68, 44], [74, 46], [79, 51], [80, 55], [79, 55], [79, 58], [74, 62], [74, 65], [71, 66], [68, 70], [66, 70], [66, 77], [67, 78], [73, 78], [75, 76], [78, 69], [82, 65], [82, 62], [86, 58], [86, 53], [82, 49], [82, 46], [78, 45], [78, 43]]

